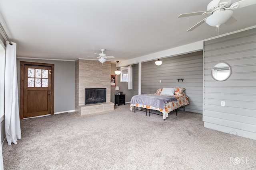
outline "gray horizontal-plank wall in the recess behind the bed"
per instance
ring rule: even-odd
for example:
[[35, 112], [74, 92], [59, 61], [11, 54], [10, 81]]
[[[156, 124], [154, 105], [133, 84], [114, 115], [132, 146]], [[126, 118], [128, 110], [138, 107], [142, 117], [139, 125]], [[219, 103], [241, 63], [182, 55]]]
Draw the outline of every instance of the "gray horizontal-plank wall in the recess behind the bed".
[[[203, 53], [198, 51], [185, 55], [161, 59], [162, 65], [156, 66], [154, 61], [142, 63], [142, 94], [155, 93], [158, 88], [182, 87], [186, 90], [190, 104], [186, 111], [202, 113], [203, 102]], [[138, 64], [134, 67], [134, 74], [138, 75]], [[135, 86], [138, 86], [138, 77]], [[178, 78], [184, 78], [183, 82]], [[159, 82], [161, 80], [161, 83]], [[138, 94], [138, 88], [134, 88]]]

